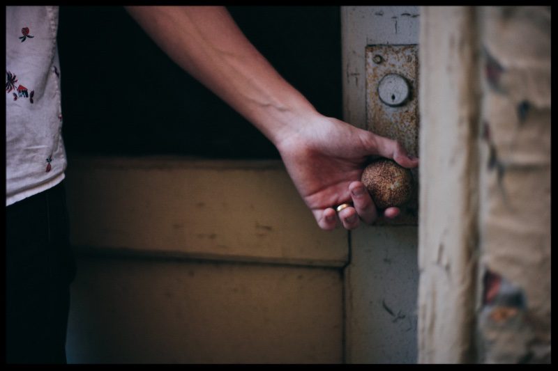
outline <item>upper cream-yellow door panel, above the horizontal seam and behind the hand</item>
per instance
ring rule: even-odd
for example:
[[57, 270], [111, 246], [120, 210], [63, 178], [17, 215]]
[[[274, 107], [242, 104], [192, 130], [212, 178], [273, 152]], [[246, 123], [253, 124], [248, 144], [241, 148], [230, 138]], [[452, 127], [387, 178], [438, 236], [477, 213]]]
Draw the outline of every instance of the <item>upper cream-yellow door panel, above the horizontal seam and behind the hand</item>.
[[74, 246], [327, 267], [347, 261], [347, 232], [319, 229], [280, 161], [74, 157], [72, 164]]

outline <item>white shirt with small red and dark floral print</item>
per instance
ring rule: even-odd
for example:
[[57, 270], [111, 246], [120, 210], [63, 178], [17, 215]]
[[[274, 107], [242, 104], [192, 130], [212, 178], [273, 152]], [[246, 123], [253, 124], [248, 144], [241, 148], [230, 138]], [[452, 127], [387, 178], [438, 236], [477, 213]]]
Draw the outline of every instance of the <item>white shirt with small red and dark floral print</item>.
[[57, 6], [6, 6], [6, 205], [64, 178]]

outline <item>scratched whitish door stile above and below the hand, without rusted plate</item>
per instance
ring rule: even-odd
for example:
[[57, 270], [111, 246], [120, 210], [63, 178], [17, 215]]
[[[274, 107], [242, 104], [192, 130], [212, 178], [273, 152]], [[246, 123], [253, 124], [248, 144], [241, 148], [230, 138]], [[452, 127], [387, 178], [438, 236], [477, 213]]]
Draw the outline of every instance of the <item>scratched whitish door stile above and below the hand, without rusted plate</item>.
[[[343, 6], [341, 12], [343, 117], [366, 129], [366, 47], [418, 44], [421, 17], [417, 6]], [[351, 232], [347, 363], [416, 362], [417, 232], [416, 223]]]

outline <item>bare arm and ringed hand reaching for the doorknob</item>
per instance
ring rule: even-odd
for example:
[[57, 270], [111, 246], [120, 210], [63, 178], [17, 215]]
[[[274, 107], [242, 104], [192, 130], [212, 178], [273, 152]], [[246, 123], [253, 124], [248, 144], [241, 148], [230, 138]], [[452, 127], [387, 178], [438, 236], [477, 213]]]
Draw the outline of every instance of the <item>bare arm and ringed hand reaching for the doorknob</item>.
[[[181, 68], [241, 113], [276, 145], [289, 175], [320, 227], [331, 229], [338, 223], [331, 207], [352, 200], [349, 185], [355, 187], [351, 183], [360, 179], [369, 155], [389, 158], [397, 155], [395, 160], [400, 158], [398, 162], [403, 166], [416, 166], [417, 161], [402, 159], [403, 151], [395, 141], [319, 114], [257, 52], [225, 8], [149, 6], [127, 9]], [[376, 209], [368, 193], [354, 199], [354, 206], [340, 212], [346, 228], [358, 224], [358, 218], [345, 223], [347, 217], [357, 212], [366, 223], [372, 223]], [[397, 209], [388, 209], [386, 216], [396, 212]], [[333, 216], [333, 221], [327, 221], [326, 216]]]

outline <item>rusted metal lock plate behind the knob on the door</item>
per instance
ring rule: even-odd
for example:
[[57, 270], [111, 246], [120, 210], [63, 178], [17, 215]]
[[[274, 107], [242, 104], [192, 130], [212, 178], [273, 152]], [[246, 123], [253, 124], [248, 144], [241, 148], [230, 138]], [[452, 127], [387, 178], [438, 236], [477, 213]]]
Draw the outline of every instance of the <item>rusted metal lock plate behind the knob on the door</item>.
[[[384, 78], [393, 75], [407, 82], [408, 91], [405, 90], [405, 94], [408, 96], [405, 99], [399, 95], [402, 90], [397, 81], [386, 84]], [[384, 82], [379, 88], [382, 79]], [[386, 93], [386, 88], [393, 88], [393, 94]], [[396, 104], [386, 104], [386, 97]], [[399, 141], [409, 155], [418, 156], [418, 45], [366, 47], [366, 129]], [[380, 219], [379, 224], [417, 224], [418, 170], [414, 169], [412, 173], [412, 200], [401, 207], [401, 214], [396, 221]]]

